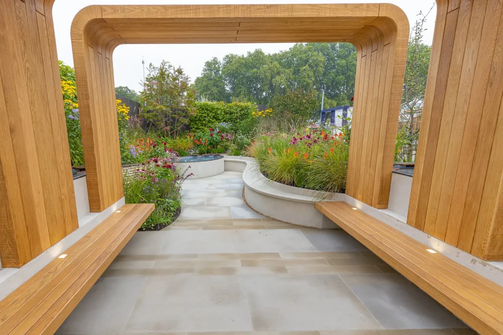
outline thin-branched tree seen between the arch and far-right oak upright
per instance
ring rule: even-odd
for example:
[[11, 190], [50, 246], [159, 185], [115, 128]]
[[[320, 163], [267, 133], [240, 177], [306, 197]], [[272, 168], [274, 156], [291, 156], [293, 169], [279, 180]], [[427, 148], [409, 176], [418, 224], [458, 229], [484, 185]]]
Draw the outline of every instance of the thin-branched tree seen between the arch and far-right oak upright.
[[409, 37], [395, 153], [397, 161], [415, 160], [432, 50], [431, 46], [423, 43], [424, 24], [432, 9], [426, 14], [418, 14], [420, 18], [416, 20]]

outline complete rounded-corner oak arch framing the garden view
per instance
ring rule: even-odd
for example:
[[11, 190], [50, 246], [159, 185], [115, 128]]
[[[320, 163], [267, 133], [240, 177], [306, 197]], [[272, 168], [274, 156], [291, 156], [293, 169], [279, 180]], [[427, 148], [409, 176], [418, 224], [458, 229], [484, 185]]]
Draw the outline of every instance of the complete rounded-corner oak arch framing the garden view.
[[71, 27], [92, 211], [123, 196], [112, 54], [121, 44], [350, 42], [358, 50], [347, 194], [388, 204], [409, 25], [389, 4], [90, 6]]

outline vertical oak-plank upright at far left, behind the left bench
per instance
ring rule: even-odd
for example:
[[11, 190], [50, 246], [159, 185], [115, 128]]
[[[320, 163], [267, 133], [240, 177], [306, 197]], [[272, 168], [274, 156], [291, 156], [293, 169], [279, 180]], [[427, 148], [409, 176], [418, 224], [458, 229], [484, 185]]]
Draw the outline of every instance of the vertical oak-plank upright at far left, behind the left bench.
[[26, 264], [78, 227], [52, 3], [7, 1], [0, 12], [3, 267]]

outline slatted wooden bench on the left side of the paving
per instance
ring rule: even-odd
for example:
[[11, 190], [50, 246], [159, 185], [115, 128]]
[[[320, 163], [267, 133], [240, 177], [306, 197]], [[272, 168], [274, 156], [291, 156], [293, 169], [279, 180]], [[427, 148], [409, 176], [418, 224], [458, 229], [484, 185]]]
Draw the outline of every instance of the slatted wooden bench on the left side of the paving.
[[122, 206], [0, 301], [0, 334], [52, 335], [153, 209]]

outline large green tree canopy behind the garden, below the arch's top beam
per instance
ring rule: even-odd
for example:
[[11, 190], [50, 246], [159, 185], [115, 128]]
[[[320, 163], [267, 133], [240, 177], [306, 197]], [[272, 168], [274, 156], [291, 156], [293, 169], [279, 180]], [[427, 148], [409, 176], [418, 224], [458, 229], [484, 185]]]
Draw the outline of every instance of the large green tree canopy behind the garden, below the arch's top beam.
[[[298, 43], [266, 54], [228, 54], [205, 63], [195, 80], [199, 98], [211, 101], [251, 101], [270, 105], [290, 91], [319, 91], [326, 85], [325, 107], [351, 104], [355, 92], [357, 52], [349, 43]], [[321, 98], [321, 97], [320, 97]]]

